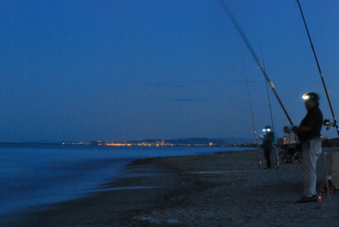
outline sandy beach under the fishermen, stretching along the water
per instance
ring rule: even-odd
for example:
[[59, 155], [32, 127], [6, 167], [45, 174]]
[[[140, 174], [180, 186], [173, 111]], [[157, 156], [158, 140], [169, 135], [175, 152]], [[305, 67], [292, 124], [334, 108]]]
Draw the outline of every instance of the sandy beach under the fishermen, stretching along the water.
[[[338, 147], [323, 148], [327, 164]], [[273, 157], [273, 156], [272, 156]], [[338, 226], [339, 194], [297, 204], [302, 164], [263, 170], [261, 151], [134, 161], [93, 196], [6, 216], [8, 226]], [[328, 173], [331, 169], [328, 169]], [[317, 166], [323, 177], [323, 155]]]

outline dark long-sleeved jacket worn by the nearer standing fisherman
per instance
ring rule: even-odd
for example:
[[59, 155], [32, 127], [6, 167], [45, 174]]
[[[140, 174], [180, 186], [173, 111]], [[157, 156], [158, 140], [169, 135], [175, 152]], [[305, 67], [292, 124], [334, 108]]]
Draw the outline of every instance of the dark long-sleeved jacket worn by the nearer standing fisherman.
[[307, 115], [300, 123], [299, 128], [311, 128], [302, 130], [297, 134], [300, 141], [311, 140], [314, 137], [320, 137], [321, 128], [323, 127], [323, 114], [319, 106], [314, 106], [307, 111]]

